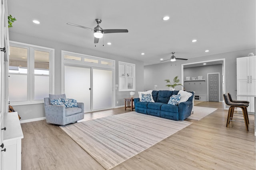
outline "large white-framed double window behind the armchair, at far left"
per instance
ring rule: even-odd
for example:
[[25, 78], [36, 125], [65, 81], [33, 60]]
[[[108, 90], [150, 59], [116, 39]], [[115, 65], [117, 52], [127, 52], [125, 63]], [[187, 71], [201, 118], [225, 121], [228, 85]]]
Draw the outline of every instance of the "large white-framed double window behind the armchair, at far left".
[[54, 93], [54, 49], [10, 43], [9, 101], [12, 105], [43, 103]]

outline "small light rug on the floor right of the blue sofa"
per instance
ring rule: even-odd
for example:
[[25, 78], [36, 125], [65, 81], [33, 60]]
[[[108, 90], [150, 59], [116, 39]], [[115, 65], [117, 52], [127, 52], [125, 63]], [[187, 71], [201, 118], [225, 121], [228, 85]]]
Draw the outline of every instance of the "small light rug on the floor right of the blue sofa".
[[212, 107], [200, 107], [200, 106], [194, 106], [194, 113], [191, 114], [188, 119], [193, 119], [193, 120], [200, 120], [203, 117], [206, 117], [210, 113], [214, 112], [217, 110], [216, 108]]

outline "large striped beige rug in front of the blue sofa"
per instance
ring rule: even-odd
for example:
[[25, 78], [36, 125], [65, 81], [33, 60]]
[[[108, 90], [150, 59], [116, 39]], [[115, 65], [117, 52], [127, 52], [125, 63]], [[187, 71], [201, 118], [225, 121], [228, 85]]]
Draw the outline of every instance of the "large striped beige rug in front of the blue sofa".
[[131, 111], [60, 128], [109, 170], [190, 124]]

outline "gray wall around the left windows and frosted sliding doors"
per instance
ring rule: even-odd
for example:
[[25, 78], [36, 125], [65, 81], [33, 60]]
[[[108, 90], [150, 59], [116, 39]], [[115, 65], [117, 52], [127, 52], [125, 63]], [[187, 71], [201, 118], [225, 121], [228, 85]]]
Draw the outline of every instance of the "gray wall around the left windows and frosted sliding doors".
[[[102, 53], [99, 51], [93, 51], [90, 49], [86, 49], [86, 47], [75, 47], [72, 45], [68, 45], [60, 42], [48, 41], [46, 39], [37, 39], [36, 37], [29, 37], [26, 35], [21, 35], [13, 32], [9, 32], [9, 38], [11, 41], [17, 41], [22, 43], [28, 43], [32, 45], [39, 45], [42, 47], [49, 47], [55, 49], [55, 94], [61, 93], [61, 50], [71, 51], [75, 53], [81, 53], [86, 55], [92, 55], [96, 57], [102, 57], [106, 59], [112, 59], [116, 61], [116, 84], [118, 84], [118, 61], [133, 63], [136, 64], [136, 93], [135, 97], [138, 96], [138, 91], [144, 90], [144, 65], [142, 61], [128, 59], [122, 56], [110, 55], [107, 53]], [[61, 40], [60, 40], [61, 41]], [[120, 49], [122, 50], [122, 49]], [[77, 83], [77, 82], [74, 82]], [[124, 106], [124, 98], [130, 97], [129, 92], [118, 92], [116, 90], [116, 102], [118, 104], [116, 106]], [[115, 103], [116, 103], [115, 102]], [[45, 117], [44, 114], [44, 104], [33, 104], [33, 105], [24, 105], [24, 106], [14, 106], [15, 111], [18, 111], [20, 114], [21, 120], [27, 119], [36, 119], [40, 117]]]

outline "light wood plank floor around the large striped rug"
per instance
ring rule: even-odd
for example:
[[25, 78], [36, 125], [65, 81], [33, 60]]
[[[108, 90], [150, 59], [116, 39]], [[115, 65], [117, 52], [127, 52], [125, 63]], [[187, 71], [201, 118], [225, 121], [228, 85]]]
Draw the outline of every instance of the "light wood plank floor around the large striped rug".
[[[255, 170], [254, 116], [226, 127], [228, 110], [220, 102], [196, 106], [218, 108], [174, 135], [114, 167], [113, 170]], [[129, 112], [124, 108], [85, 113], [85, 119]], [[104, 170], [60, 127], [45, 120], [21, 124], [22, 170]]]

